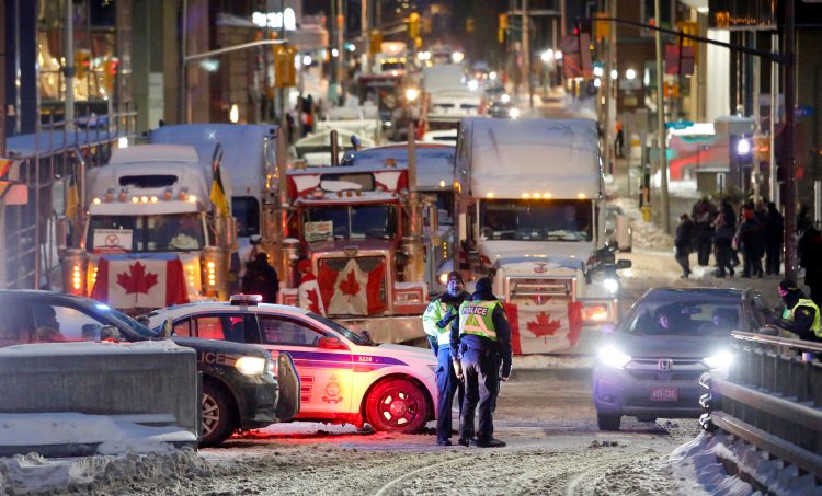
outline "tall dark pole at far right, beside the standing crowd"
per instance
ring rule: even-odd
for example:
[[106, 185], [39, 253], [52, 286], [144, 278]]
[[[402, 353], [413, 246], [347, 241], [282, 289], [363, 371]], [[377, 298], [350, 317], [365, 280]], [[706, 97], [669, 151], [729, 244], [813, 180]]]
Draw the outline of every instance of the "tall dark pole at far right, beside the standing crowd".
[[[659, 0], [658, 0], [659, 1]], [[785, 62], [785, 130], [783, 146], [785, 150], [785, 276], [796, 280], [797, 277], [797, 242], [794, 234], [797, 230], [797, 192], [794, 181], [796, 165], [796, 143], [794, 142], [794, 125], [796, 123], [796, 60], [794, 58], [794, 2], [785, 1], [785, 47], [783, 54]]]

